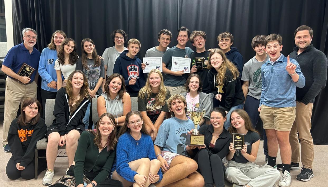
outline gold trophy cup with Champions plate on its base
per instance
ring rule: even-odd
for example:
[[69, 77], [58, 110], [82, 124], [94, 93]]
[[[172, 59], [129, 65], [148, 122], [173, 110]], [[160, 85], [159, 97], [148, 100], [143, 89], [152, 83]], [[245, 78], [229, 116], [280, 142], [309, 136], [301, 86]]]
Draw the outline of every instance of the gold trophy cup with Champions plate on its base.
[[197, 130], [197, 126], [200, 122], [200, 120], [205, 115], [205, 110], [202, 112], [192, 112], [188, 110], [188, 115], [191, 117], [191, 120], [195, 124], [195, 129], [192, 134], [187, 134], [187, 145], [189, 146], [196, 146], [196, 147], [202, 147], [204, 146], [204, 135], [199, 134], [199, 131]]

